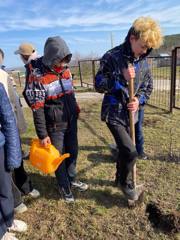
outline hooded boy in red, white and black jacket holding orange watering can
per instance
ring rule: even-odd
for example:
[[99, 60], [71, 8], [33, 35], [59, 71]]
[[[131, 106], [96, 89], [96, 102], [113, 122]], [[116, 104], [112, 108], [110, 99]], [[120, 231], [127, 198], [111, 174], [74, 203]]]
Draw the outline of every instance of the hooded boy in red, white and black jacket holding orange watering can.
[[[52, 143], [60, 153], [70, 153], [55, 172], [59, 191], [66, 202], [74, 202], [72, 188], [88, 185], [75, 180], [78, 156], [77, 118], [72, 76], [67, 64], [72, 54], [61, 37], [50, 37], [44, 55], [26, 64], [24, 97], [33, 111], [35, 129], [42, 145]], [[36, 98], [34, 97], [36, 96]]]

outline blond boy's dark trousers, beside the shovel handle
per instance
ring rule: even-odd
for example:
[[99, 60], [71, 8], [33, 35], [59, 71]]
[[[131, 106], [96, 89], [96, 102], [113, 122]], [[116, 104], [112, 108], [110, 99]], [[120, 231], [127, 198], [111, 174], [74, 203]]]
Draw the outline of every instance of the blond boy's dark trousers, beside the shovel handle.
[[130, 138], [128, 129], [121, 124], [111, 125], [108, 123], [107, 126], [119, 150], [116, 162], [116, 179], [121, 185], [125, 186], [136, 162], [137, 151]]

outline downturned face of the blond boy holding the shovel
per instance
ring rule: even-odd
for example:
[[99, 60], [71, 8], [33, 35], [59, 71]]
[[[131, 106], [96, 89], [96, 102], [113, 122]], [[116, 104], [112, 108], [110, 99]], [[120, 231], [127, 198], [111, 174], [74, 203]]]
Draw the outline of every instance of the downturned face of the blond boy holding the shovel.
[[130, 36], [131, 48], [136, 58], [145, 54], [148, 50], [146, 43], [144, 43], [140, 38], [136, 38], [134, 35]]

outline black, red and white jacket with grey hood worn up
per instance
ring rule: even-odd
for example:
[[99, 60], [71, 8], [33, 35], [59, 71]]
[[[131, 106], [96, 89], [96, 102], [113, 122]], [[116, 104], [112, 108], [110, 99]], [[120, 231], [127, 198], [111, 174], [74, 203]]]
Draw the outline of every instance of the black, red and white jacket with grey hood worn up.
[[66, 129], [77, 117], [72, 76], [69, 68], [60, 72], [53, 68], [55, 61], [70, 61], [72, 54], [61, 37], [50, 37], [44, 46], [44, 56], [26, 65], [24, 97], [33, 110], [34, 124], [40, 139], [52, 129]]

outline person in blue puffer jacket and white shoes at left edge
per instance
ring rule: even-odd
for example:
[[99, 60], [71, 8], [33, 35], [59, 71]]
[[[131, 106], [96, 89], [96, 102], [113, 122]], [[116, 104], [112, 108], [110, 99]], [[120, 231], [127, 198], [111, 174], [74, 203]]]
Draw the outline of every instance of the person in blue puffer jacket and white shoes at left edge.
[[21, 146], [14, 113], [2, 83], [0, 83], [0, 126], [0, 239], [17, 240], [11, 231], [27, 230], [25, 222], [14, 219], [12, 194], [11, 172], [21, 165]]

